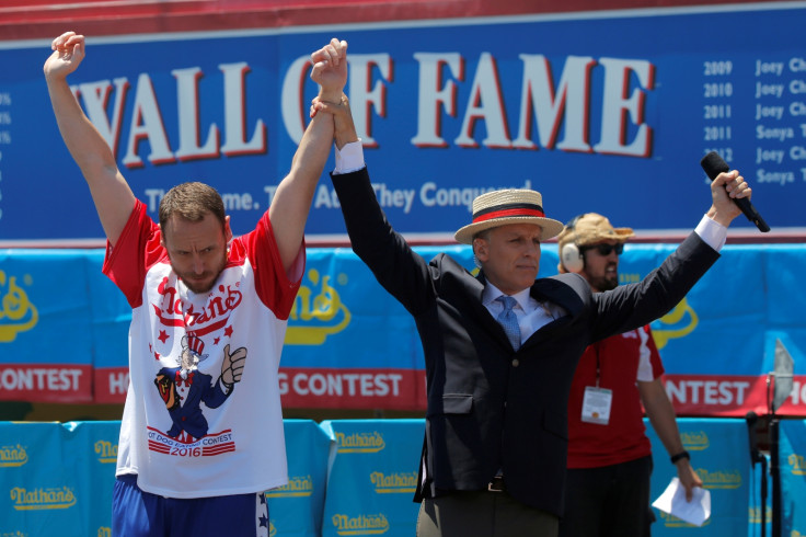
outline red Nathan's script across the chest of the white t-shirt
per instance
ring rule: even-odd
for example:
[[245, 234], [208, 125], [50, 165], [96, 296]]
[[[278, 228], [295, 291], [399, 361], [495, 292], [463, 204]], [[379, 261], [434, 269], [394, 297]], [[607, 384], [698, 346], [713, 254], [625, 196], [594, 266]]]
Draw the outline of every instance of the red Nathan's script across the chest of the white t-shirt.
[[243, 299], [243, 295], [238, 287], [238, 283], [234, 286], [221, 284], [210, 290], [210, 297], [200, 311], [196, 311], [193, 305], [187, 311], [183, 311], [182, 299], [176, 287], [169, 285], [168, 277], [163, 277], [157, 287], [157, 292], [162, 295], [162, 304], [152, 304], [151, 306], [162, 324], [166, 327], [186, 327], [188, 331], [202, 336], [227, 324], [230, 313], [238, 308]]

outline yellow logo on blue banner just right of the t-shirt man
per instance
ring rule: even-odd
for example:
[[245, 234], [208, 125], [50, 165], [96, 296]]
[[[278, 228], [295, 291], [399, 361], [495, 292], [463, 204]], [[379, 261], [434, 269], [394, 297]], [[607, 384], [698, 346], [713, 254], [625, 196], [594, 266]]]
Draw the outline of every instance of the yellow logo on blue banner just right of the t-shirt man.
[[[349, 310], [331, 285], [331, 276], [320, 276], [319, 271], [311, 268], [308, 279], [312, 285], [300, 286], [291, 308], [289, 321], [297, 322], [289, 322], [287, 345], [321, 345], [329, 335], [341, 332], [349, 324]], [[339, 274], [337, 279], [338, 285], [347, 283], [345, 274]]]

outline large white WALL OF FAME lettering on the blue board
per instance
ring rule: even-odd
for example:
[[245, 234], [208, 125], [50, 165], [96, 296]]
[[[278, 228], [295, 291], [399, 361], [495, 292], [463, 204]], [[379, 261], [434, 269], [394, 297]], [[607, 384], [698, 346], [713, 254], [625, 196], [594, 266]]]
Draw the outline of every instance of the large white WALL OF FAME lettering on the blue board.
[[[655, 67], [647, 60], [568, 56], [563, 66], [560, 83], [553, 85], [551, 65], [543, 55], [519, 55], [521, 60], [518, 135], [510, 139], [505, 107], [506, 89], [502, 83], [495, 57], [481, 53], [464, 103], [462, 124], [453, 142], [459, 147], [477, 147], [475, 127], [483, 123], [486, 137], [481, 145], [490, 148], [538, 149], [531, 127], [537, 121], [539, 144], [546, 149], [599, 152], [646, 157], [652, 147], [652, 129], [644, 123], [647, 91], [654, 90]], [[459, 53], [414, 53], [419, 65], [417, 99], [417, 133], [411, 142], [417, 147], [447, 147], [441, 117], [458, 116], [458, 83], [463, 83], [464, 58]], [[387, 117], [388, 85], [394, 81], [394, 60], [389, 54], [352, 55], [349, 95], [358, 135], [366, 147], [377, 147], [372, 136], [372, 118]], [[308, 103], [302, 102], [310, 58], [296, 59], [283, 78], [280, 111], [290, 138], [299, 144], [306, 129]], [[444, 69], [447, 67], [447, 69]], [[220, 64], [223, 85], [223, 133], [218, 125], [202, 125], [199, 111], [209, 107], [205, 99], [202, 67], [183, 67], [171, 73], [176, 87], [176, 132], [179, 140], [172, 149], [162, 116], [161, 100], [154, 91], [151, 76], [142, 72], [134, 88], [128, 106], [130, 122], [122, 162], [128, 168], [145, 165], [139, 151], [148, 147], [151, 164], [164, 164], [197, 159], [216, 159], [221, 155], [257, 155], [267, 150], [267, 129], [257, 118], [249, 134], [246, 114], [245, 61]], [[599, 95], [601, 117], [590, 117], [592, 71], [602, 70], [602, 91]], [[442, 80], [444, 76], [451, 78]], [[636, 82], [635, 82], [636, 81]], [[803, 82], [803, 81], [799, 81]], [[73, 87], [77, 99], [83, 96], [90, 121], [117, 156], [124, 110], [129, 100], [126, 78], [101, 80]], [[802, 92], [797, 84], [793, 93]], [[108, 117], [106, 104], [114, 91], [114, 103]], [[510, 91], [517, 91], [510, 89]], [[769, 91], [769, 90], [767, 90]], [[783, 91], [783, 87], [781, 87]], [[404, 93], [401, 93], [404, 94]], [[591, 146], [590, 126], [600, 125], [598, 144]], [[563, 138], [557, 140], [562, 132]], [[627, 133], [632, 139], [627, 139]], [[147, 141], [147, 144], [140, 144]], [[269, 193], [270, 197], [270, 193]]]

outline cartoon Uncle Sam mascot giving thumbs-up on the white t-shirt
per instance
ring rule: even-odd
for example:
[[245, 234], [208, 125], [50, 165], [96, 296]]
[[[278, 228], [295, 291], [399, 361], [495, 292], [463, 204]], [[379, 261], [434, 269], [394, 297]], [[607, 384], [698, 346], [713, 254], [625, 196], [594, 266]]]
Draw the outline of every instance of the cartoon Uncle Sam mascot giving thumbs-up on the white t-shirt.
[[202, 403], [208, 409], [217, 409], [223, 404], [232, 395], [235, 384], [241, 380], [246, 363], [245, 347], [230, 354], [230, 346], [226, 345], [221, 375], [214, 384], [210, 375], [198, 370], [198, 364], [207, 359], [207, 354], [203, 354], [204, 350], [204, 341], [188, 332], [182, 338], [179, 366], [163, 367], [154, 378], [154, 385], [165, 401], [173, 422], [168, 435], [184, 443], [192, 443], [194, 438], [198, 439], [207, 434], [208, 425], [202, 412]]

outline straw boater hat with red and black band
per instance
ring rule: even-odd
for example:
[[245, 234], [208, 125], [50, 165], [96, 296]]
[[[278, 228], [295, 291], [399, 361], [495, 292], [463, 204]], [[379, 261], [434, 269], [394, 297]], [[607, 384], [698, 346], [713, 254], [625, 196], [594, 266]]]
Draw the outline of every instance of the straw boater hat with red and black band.
[[562, 222], [545, 217], [540, 192], [503, 190], [473, 199], [473, 222], [457, 231], [454, 238], [470, 244], [477, 232], [507, 224], [536, 224], [542, 229], [540, 240], [551, 239], [563, 229]]

